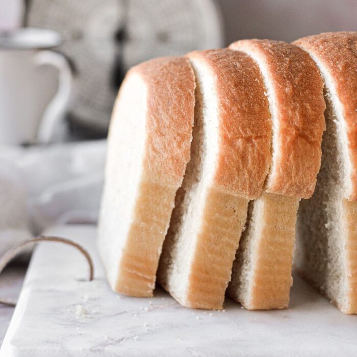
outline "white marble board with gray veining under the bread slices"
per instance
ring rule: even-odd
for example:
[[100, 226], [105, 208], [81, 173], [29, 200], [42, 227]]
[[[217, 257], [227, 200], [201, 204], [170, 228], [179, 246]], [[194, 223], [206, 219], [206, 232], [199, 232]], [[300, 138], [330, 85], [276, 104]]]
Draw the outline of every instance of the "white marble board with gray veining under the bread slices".
[[95, 227], [62, 226], [54, 235], [83, 244], [80, 253], [40, 243], [0, 355], [19, 356], [336, 356], [357, 354], [357, 316], [340, 313], [294, 276], [291, 308], [247, 311], [227, 299], [223, 311], [181, 307], [158, 288], [152, 298], [115, 294], [95, 251]]

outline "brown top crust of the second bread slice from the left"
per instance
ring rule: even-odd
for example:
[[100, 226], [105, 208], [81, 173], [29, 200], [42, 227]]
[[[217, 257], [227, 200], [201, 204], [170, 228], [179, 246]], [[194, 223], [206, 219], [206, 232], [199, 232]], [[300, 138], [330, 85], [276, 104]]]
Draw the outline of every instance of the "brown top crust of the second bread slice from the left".
[[258, 66], [230, 49], [191, 52], [216, 81], [219, 154], [214, 185], [247, 199], [257, 198], [269, 170], [271, 121]]

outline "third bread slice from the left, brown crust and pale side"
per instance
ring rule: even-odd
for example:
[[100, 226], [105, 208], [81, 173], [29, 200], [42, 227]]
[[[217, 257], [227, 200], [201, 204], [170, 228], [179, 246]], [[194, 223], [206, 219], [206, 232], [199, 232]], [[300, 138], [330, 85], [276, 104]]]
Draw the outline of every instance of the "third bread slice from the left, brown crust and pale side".
[[310, 56], [286, 42], [242, 40], [230, 48], [259, 65], [273, 136], [265, 192], [250, 202], [227, 293], [250, 310], [284, 309], [292, 285], [299, 198], [313, 194], [321, 163], [322, 80]]

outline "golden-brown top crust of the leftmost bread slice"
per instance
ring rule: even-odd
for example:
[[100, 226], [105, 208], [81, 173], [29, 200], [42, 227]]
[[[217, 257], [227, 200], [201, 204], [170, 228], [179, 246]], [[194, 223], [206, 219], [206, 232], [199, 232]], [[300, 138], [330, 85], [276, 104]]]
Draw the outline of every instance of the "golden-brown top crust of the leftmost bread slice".
[[[195, 103], [195, 76], [187, 58], [162, 57], [143, 62], [137, 73], [147, 86], [146, 177], [180, 187], [190, 160]], [[120, 95], [120, 94], [119, 94]]]

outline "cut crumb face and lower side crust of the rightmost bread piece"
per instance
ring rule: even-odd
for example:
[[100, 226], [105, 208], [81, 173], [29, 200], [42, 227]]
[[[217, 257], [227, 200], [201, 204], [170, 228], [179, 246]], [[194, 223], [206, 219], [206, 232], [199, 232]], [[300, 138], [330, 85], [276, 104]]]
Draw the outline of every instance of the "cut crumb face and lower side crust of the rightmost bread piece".
[[341, 311], [357, 313], [357, 233], [355, 224], [350, 224], [357, 203], [344, 198], [352, 191], [352, 165], [343, 106], [329, 71], [309, 53], [325, 83], [326, 131], [315, 193], [310, 200], [302, 200], [299, 209], [294, 264]]

